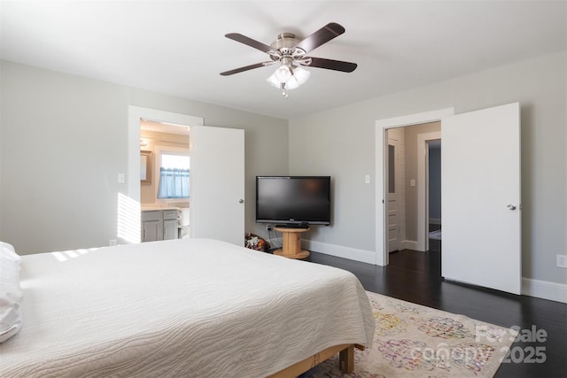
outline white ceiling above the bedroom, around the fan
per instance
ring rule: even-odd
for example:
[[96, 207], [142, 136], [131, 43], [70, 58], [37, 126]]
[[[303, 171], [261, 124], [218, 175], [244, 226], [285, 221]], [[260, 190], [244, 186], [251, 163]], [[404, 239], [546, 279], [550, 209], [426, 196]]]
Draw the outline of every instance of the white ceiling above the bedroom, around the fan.
[[[2, 1], [0, 57], [290, 119], [567, 48], [565, 1]], [[269, 44], [329, 22], [344, 35], [309, 55], [358, 64], [309, 68], [285, 99], [276, 66], [225, 38]]]

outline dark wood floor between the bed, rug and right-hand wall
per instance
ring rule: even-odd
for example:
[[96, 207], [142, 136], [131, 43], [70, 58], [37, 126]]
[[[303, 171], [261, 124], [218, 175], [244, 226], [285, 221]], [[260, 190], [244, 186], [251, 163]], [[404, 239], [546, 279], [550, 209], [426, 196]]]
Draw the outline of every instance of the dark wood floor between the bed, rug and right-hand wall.
[[[310, 261], [336, 266], [355, 274], [369, 291], [396, 297], [439, 310], [461, 313], [503, 327], [523, 330], [544, 329], [543, 343], [517, 342], [514, 355], [501, 364], [496, 377], [567, 377], [567, 305], [545, 299], [516, 296], [492, 289], [482, 289], [441, 278], [441, 252], [396, 251], [389, 266], [373, 266], [346, 258], [312, 252]], [[545, 362], [530, 361], [532, 348], [545, 353]], [[532, 354], [532, 360], [536, 359]], [[541, 360], [542, 358], [538, 358]]]

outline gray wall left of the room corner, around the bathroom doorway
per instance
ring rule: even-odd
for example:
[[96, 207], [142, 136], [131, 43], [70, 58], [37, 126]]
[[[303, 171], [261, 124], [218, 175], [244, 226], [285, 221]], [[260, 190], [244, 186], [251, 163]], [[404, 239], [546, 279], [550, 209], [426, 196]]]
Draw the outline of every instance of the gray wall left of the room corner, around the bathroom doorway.
[[260, 231], [255, 175], [288, 172], [287, 120], [6, 61], [0, 76], [0, 240], [21, 254], [116, 239], [117, 196], [128, 193], [117, 183], [128, 173], [128, 105], [245, 129], [247, 231]]

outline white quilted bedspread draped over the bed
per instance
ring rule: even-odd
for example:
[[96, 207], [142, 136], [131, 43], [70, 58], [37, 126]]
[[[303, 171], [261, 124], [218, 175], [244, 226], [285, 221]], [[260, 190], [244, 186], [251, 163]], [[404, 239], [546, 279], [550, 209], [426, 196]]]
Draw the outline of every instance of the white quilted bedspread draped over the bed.
[[21, 269], [3, 377], [261, 377], [374, 333], [353, 274], [213, 240], [41, 253]]

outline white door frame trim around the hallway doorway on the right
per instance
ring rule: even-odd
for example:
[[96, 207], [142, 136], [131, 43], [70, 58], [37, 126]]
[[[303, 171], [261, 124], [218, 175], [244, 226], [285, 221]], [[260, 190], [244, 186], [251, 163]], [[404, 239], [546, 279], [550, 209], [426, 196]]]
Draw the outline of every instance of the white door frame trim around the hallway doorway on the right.
[[415, 114], [393, 117], [384, 120], [377, 120], [375, 125], [376, 135], [376, 265], [386, 266], [389, 264], [389, 253], [387, 248], [387, 225], [385, 200], [387, 199], [386, 177], [387, 166], [385, 166], [387, 153], [387, 135], [386, 130], [393, 127], [405, 127], [439, 121], [444, 117], [454, 115], [454, 107], [439, 109], [431, 112], [421, 112]]

